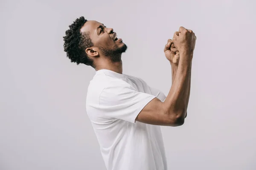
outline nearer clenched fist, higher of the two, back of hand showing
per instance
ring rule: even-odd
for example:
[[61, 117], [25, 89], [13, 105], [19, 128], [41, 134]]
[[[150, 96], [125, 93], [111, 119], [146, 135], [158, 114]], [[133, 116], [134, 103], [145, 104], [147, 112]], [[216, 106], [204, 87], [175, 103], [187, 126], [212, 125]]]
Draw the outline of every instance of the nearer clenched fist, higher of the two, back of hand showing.
[[172, 41], [181, 53], [193, 54], [196, 36], [192, 30], [180, 27], [173, 35]]

